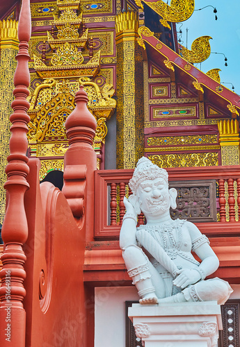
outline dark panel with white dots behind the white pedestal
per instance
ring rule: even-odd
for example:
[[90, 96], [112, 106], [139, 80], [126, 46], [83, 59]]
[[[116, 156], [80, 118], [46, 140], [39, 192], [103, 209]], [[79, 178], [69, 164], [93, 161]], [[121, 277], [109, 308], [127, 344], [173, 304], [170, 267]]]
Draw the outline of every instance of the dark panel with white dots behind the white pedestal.
[[[128, 307], [138, 301], [125, 302], [126, 347], [143, 347], [135, 335], [134, 325], [127, 316]], [[223, 331], [219, 332], [218, 347], [240, 347], [240, 299], [228, 300], [221, 306]]]

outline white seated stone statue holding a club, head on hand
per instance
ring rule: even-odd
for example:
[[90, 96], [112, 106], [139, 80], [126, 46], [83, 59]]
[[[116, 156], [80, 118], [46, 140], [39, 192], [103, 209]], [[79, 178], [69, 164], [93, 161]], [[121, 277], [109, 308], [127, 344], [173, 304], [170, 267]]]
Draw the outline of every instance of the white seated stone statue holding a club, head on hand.
[[[170, 218], [177, 191], [168, 189], [168, 173], [143, 157], [129, 181], [120, 248], [141, 304], [227, 301], [232, 288], [219, 278], [205, 280], [219, 261], [205, 235], [191, 222]], [[143, 212], [146, 225], [136, 228]], [[193, 251], [200, 258], [193, 257]]]

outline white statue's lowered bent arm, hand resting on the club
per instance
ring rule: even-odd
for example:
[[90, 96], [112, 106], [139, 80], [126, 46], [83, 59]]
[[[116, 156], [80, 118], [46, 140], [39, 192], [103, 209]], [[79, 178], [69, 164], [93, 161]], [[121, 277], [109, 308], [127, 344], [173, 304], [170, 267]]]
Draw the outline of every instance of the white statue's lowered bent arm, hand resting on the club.
[[[200, 230], [191, 222], [185, 223], [186, 228], [189, 230], [192, 241], [202, 236]], [[198, 280], [203, 280], [205, 277], [214, 273], [219, 266], [219, 260], [209, 244], [205, 242], [195, 249], [195, 254], [200, 257], [202, 262], [198, 269], [182, 269], [179, 276], [173, 281], [174, 285], [186, 288], [188, 285], [193, 285]]]

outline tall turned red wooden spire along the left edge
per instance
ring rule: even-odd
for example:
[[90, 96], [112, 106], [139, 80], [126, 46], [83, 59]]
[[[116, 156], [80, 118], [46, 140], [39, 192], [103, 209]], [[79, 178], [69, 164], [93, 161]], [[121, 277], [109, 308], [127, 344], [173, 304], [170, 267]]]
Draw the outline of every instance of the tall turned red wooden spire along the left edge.
[[[29, 40], [31, 37], [31, 12], [30, 1], [22, 0], [22, 9], [19, 16], [18, 38], [19, 53], [17, 54], [17, 69], [14, 76], [15, 100], [12, 103], [14, 110], [10, 116], [13, 124], [10, 128], [11, 137], [9, 142], [10, 155], [6, 174], [8, 180], [4, 187], [7, 190], [8, 203], [6, 217], [3, 221], [2, 238], [5, 249], [1, 257], [3, 269], [0, 276], [2, 285], [0, 289], [0, 344], [4, 346], [25, 347], [26, 312], [22, 301], [26, 295], [24, 289], [24, 262], [26, 255], [22, 245], [28, 237], [28, 224], [24, 209], [24, 194], [29, 184], [26, 176], [29, 167], [26, 164], [26, 150], [28, 142], [26, 133], [27, 123], [30, 118], [26, 111], [29, 109], [30, 74], [28, 61]], [[9, 319], [9, 320], [8, 320]]]

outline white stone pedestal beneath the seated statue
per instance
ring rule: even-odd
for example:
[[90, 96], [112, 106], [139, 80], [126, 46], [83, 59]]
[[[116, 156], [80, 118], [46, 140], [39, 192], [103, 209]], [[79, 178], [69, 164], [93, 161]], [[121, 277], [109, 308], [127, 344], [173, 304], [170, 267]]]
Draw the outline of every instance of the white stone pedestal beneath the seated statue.
[[216, 301], [133, 304], [128, 316], [145, 347], [214, 347], [223, 329]]

